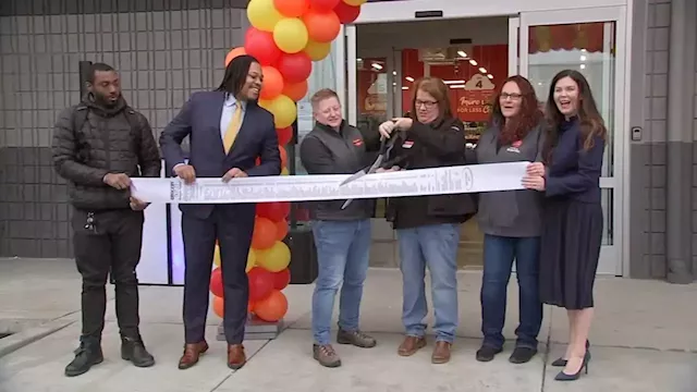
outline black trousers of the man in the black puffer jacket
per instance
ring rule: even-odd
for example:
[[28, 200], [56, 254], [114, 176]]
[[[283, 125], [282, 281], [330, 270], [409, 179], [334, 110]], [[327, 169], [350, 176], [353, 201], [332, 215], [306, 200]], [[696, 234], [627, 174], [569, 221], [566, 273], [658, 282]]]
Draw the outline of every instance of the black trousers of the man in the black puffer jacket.
[[73, 211], [73, 248], [83, 277], [83, 336], [101, 339], [107, 311], [107, 279], [115, 282], [117, 319], [122, 336], [139, 338], [136, 266], [143, 243], [143, 212]]

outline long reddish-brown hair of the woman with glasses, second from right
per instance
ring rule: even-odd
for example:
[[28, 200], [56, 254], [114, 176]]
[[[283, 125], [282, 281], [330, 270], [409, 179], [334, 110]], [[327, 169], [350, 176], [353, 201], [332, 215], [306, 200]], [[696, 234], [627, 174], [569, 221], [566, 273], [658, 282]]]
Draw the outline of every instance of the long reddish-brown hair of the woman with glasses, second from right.
[[[505, 122], [501, 112], [501, 91], [503, 86], [509, 82], [515, 83], [521, 89], [521, 110], [515, 117]], [[497, 91], [493, 99], [493, 109], [491, 110], [492, 124], [501, 128], [499, 133], [499, 142], [502, 146], [510, 145], [516, 140], [522, 140], [530, 131], [542, 121], [542, 111], [538, 107], [537, 95], [528, 79], [521, 75], [509, 76]]]

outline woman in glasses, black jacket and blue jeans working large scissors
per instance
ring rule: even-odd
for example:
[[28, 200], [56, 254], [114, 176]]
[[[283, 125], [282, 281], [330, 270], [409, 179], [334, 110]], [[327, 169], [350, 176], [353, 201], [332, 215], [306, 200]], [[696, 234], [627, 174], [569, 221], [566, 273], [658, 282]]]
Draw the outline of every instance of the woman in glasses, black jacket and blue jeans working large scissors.
[[[387, 121], [380, 134], [394, 148], [383, 170], [412, 170], [462, 166], [469, 161], [464, 125], [451, 111], [443, 81], [425, 77], [414, 84], [412, 115]], [[472, 162], [474, 162], [474, 151]], [[436, 310], [433, 364], [450, 360], [457, 329], [457, 245], [460, 225], [476, 212], [472, 194], [396, 197], [388, 200], [388, 220], [398, 232], [402, 270], [402, 322], [406, 336], [399, 347], [411, 356], [426, 346], [425, 274], [431, 274]]]

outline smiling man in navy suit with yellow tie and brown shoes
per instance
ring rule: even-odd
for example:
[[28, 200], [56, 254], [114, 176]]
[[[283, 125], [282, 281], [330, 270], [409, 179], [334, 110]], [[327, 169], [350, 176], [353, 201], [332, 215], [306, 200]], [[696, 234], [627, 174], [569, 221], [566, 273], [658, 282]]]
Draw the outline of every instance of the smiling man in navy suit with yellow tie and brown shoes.
[[[262, 79], [259, 62], [241, 56], [228, 64], [215, 91], [192, 95], [160, 135], [168, 170], [189, 184], [197, 176], [229, 182], [236, 177], [279, 175], [281, 156], [273, 115], [257, 105]], [[181, 146], [186, 136], [191, 146], [188, 162]], [[259, 166], [255, 166], [257, 158]], [[255, 207], [254, 204], [180, 206], [186, 260], [185, 345], [180, 369], [194, 366], [208, 350], [204, 335], [216, 240], [220, 244], [224, 290], [228, 366], [239, 369], [246, 363], [242, 345], [249, 294], [245, 267]]]

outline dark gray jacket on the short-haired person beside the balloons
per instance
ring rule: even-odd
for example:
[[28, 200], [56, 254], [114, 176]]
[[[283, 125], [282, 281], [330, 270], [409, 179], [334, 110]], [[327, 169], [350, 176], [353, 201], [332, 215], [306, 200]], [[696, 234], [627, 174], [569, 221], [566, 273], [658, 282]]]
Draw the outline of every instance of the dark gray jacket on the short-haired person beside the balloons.
[[[345, 121], [339, 131], [317, 123], [301, 142], [301, 161], [308, 174], [353, 174], [371, 164], [380, 148], [380, 134], [364, 135]], [[341, 209], [342, 200], [308, 201], [311, 219], [358, 220], [372, 217], [375, 199], [355, 199]]]

